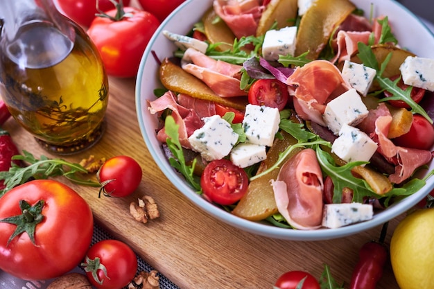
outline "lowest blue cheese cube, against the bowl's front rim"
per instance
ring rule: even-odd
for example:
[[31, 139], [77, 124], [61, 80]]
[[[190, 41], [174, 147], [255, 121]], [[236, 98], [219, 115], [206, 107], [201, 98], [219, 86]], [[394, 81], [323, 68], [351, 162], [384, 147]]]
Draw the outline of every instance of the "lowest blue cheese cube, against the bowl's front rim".
[[357, 202], [347, 204], [324, 204], [322, 211], [322, 226], [339, 228], [356, 222], [371, 220], [374, 216], [372, 204]]

